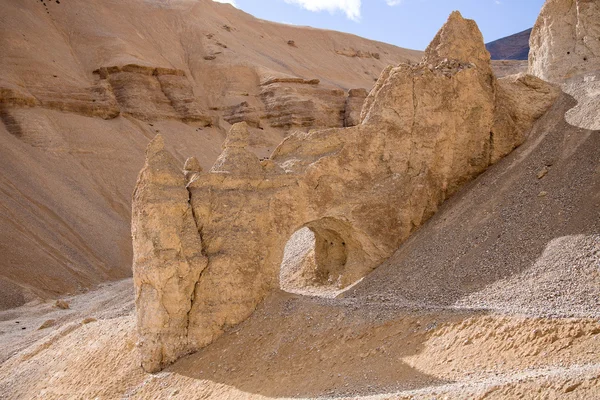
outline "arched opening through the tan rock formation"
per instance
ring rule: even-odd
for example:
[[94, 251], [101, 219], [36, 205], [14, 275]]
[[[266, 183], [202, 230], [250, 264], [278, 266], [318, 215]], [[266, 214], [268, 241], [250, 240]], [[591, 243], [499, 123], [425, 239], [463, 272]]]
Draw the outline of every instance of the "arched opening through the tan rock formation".
[[281, 289], [307, 296], [337, 296], [357, 283], [347, 282], [350, 251], [351, 246], [336, 230], [308, 224], [296, 231], [285, 246], [279, 275]]

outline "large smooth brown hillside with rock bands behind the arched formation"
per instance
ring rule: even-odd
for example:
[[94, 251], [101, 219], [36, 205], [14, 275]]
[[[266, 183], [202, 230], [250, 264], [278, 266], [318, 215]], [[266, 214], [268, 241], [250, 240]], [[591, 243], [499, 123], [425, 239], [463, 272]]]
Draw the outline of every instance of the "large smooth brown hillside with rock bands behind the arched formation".
[[0, 309], [131, 275], [156, 134], [207, 169], [244, 121], [264, 157], [290, 130], [345, 126], [348, 89], [420, 54], [210, 0], [7, 0], [0, 19]]

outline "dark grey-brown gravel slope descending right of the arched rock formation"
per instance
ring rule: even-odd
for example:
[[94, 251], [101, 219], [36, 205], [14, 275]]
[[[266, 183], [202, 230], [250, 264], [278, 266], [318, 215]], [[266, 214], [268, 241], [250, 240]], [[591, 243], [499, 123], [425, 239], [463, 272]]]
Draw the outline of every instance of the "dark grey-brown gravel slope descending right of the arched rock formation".
[[[575, 104], [563, 95], [523, 146], [447, 201], [344, 296], [500, 307], [491, 298], [481, 302], [493, 291], [506, 300], [504, 312], [527, 313], [531, 303], [545, 315], [555, 314], [557, 304], [563, 314], [599, 315], [600, 132], [565, 122]], [[546, 289], [523, 280], [538, 279], [540, 271], [546, 282], [569, 279]], [[543, 300], [549, 290], [556, 290], [553, 302]]]

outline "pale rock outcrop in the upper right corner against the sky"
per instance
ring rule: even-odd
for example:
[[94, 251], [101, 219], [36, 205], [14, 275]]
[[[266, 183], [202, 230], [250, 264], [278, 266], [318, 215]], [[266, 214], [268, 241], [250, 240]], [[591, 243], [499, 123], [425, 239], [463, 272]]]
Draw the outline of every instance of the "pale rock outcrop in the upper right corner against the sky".
[[529, 73], [550, 82], [600, 69], [600, 3], [547, 0], [531, 33]]

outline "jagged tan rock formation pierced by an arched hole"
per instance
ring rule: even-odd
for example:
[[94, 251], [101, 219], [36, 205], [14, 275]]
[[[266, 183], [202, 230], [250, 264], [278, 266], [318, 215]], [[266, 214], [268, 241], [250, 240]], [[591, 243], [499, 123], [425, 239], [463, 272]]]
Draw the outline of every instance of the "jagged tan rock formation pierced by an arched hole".
[[[133, 219], [144, 368], [160, 369], [246, 319], [279, 286], [285, 244], [301, 228], [314, 234], [319, 281], [343, 288], [365, 276], [521, 144], [556, 96], [533, 77], [498, 83], [476, 24], [455, 12], [422, 63], [383, 71], [359, 125], [296, 132], [263, 161], [247, 150], [247, 124], [234, 125], [212, 170], [187, 184], [193, 212], [184, 172], [153, 143]], [[541, 105], [525, 106], [531, 99]]]

